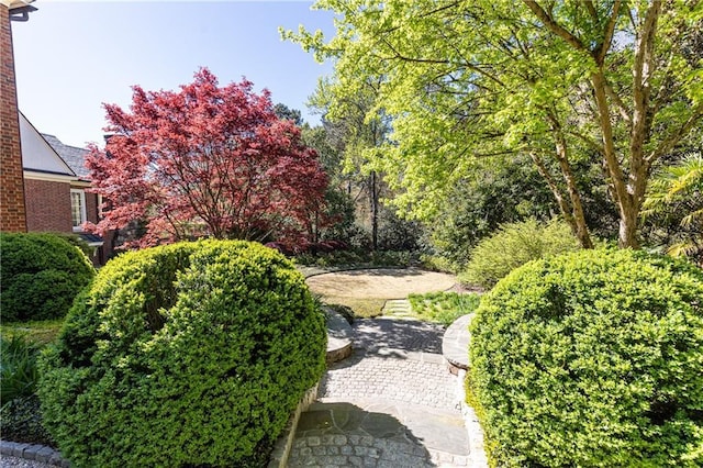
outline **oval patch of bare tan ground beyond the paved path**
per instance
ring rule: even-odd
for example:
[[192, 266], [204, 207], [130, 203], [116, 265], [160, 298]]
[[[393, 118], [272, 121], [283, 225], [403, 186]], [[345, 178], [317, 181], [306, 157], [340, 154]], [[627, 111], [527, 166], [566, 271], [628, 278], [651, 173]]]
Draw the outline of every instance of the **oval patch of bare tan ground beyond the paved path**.
[[453, 275], [419, 269], [364, 269], [308, 278], [311, 291], [324, 297], [405, 299], [412, 292], [445, 291], [456, 285]]

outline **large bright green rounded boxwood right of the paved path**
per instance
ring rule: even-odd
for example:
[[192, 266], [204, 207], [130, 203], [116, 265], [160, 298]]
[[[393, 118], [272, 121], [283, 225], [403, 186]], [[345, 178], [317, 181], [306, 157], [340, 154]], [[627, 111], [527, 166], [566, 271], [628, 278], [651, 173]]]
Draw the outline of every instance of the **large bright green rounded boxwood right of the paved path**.
[[700, 269], [628, 249], [536, 260], [470, 328], [468, 401], [494, 464], [703, 464]]

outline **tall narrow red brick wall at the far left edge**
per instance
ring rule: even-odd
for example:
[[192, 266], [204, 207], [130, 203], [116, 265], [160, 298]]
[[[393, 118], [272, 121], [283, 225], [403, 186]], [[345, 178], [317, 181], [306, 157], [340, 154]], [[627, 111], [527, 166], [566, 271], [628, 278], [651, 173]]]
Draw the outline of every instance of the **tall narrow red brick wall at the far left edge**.
[[0, 231], [26, 231], [10, 11], [0, 3]]

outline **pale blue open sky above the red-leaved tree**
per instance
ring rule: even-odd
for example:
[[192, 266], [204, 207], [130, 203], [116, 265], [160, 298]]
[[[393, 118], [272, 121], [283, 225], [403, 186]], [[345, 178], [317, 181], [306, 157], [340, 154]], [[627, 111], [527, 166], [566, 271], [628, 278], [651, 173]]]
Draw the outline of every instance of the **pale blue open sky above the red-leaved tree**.
[[319, 77], [332, 70], [278, 27], [334, 33], [331, 12], [311, 1], [37, 0], [30, 20], [12, 22], [18, 103], [42, 133], [63, 143], [102, 144], [102, 103], [129, 109], [132, 86], [177, 90], [207, 67], [220, 85], [254, 82], [274, 103], [305, 107]]

